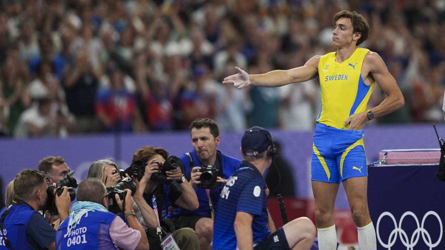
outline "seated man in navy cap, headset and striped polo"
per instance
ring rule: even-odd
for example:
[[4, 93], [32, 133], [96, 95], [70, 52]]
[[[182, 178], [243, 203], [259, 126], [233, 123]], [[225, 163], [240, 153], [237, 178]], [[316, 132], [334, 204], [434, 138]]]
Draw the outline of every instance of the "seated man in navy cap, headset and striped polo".
[[309, 250], [316, 229], [309, 218], [296, 218], [271, 234], [263, 173], [277, 154], [269, 131], [252, 127], [244, 133], [243, 162], [221, 191], [214, 222], [214, 250]]

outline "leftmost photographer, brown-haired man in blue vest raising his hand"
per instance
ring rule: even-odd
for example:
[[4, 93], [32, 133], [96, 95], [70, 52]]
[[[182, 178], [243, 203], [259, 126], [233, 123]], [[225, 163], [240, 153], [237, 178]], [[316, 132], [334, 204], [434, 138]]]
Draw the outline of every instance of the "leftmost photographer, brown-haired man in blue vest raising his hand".
[[[0, 250], [55, 250], [56, 230], [37, 212], [43, 210], [48, 201], [45, 175], [34, 169], [25, 169], [16, 175], [13, 186], [15, 196], [12, 205], [0, 212], [0, 236], [4, 243]], [[54, 195], [60, 217], [67, 218], [71, 203], [67, 187], [63, 187], [60, 196]]]

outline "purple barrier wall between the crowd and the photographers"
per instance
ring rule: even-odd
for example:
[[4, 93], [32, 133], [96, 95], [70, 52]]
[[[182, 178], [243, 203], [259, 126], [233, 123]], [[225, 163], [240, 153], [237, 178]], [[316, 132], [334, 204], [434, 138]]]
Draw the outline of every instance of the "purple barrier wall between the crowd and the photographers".
[[[437, 128], [445, 137], [445, 126], [440, 124]], [[312, 197], [310, 161], [313, 131], [272, 131], [272, 133], [282, 145], [281, 153], [294, 169], [296, 193], [301, 198]], [[227, 155], [240, 158], [241, 137], [242, 133], [223, 133], [218, 149]], [[378, 152], [383, 149], [438, 147], [433, 126], [430, 124], [367, 126], [364, 142], [368, 163], [378, 159]], [[47, 155], [57, 155], [64, 157], [68, 166], [76, 171], [74, 176], [82, 180], [92, 161], [113, 157], [121, 159], [118, 161], [120, 168], [126, 168], [129, 166], [133, 152], [145, 145], [164, 147], [171, 155], [177, 156], [192, 150], [188, 132], [121, 135], [120, 137], [114, 135], [73, 136], [67, 139], [2, 139], [0, 140], [0, 176], [6, 187], [21, 169], [36, 168], [40, 159]], [[285, 185], [285, 183], [282, 184]], [[339, 191], [336, 207], [348, 208], [342, 188]]]

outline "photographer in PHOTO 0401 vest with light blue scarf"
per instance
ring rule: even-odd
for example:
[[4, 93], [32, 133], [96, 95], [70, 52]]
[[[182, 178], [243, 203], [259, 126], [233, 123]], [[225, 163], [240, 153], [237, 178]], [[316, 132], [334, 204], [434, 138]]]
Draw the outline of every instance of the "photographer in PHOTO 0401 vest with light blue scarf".
[[[108, 197], [104, 184], [88, 178], [77, 187], [77, 202], [71, 207], [69, 219], [64, 220], [56, 234], [57, 250], [124, 249], [147, 250], [149, 244], [144, 229], [133, 213], [125, 214], [127, 224], [107, 210]], [[131, 191], [124, 190], [125, 211], [133, 209]], [[122, 210], [122, 200], [115, 194]]]

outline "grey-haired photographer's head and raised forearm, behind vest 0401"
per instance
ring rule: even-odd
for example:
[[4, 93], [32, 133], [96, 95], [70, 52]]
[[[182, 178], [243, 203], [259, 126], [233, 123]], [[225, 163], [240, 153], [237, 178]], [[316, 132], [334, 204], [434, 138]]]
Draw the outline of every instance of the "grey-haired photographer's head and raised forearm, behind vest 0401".
[[[119, 169], [117, 168], [116, 163], [113, 163], [112, 159], [102, 159], [91, 163], [87, 178], [100, 179], [102, 180], [102, 183], [105, 184], [105, 187], [110, 187], [115, 186], [121, 180], [121, 175], [119, 174]], [[133, 177], [132, 179], [137, 190], [139, 190], [141, 186], [140, 183], [137, 179]], [[144, 188], [145, 185], [142, 187], [142, 190], [144, 190]], [[154, 214], [153, 209], [142, 197], [142, 191], [136, 192], [133, 199], [133, 210], [139, 223], [145, 228], [155, 229], [158, 227], [156, 214]]]

